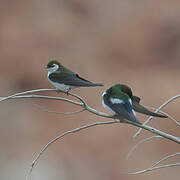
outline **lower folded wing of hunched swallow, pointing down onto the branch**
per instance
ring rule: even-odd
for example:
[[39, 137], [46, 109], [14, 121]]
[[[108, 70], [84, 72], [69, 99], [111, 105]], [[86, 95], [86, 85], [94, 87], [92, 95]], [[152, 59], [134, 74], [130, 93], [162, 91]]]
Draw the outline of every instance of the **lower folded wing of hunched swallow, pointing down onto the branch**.
[[104, 103], [121, 117], [141, 124], [135, 116], [135, 114], [133, 113], [132, 105], [129, 101], [126, 101], [125, 103], [111, 103], [110, 101], [104, 99]]

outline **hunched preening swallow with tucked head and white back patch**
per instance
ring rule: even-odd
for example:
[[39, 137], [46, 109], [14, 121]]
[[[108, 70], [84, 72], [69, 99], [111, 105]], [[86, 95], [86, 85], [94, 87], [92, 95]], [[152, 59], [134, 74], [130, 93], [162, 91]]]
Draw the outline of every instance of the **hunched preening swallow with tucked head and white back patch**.
[[140, 105], [140, 98], [133, 96], [130, 87], [124, 84], [116, 84], [103, 93], [103, 106], [110, 110], [113, 114], [140, 123], [134, 111], [160, 118], [167, 118], [165, 115], [149, 111]]

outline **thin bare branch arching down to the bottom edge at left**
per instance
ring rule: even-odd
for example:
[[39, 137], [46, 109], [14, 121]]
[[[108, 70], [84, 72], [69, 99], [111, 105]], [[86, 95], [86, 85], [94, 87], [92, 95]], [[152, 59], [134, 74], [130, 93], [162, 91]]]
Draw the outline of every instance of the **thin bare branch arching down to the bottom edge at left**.
[[35, 157], [35, 159], [33, 160], [32, 164], [31, 164], [31, 168], [29, 169], [28, 171], [28, 174], [27, 174], [27, 178], [26, 180], [30, 180], [31, 179], [31, 173], [32, 173], [32, 170], [33, 170], [33, 167], [36, 165], [37, 161], [39, 160], [40, 156], [46, 151], [46, 149], [52, 145], [53, 143], [55, 143], [57, 140], [60, 140], [62, 137], [68, 135], [68, 134], [73, 134], [73, 133], [76, 133], [76, 132], [79, 132], [83, 129], [87, 129], [87, 128], [90, 128], [90, 127], [94, 127], [94, 126], [98, 126], [98, 125], [105, 125], [105, 124], [114, 124], [114, 123], [120, 123], [119, 120], [112, 120], [112, 121], [105, 121], [105, 122], [95, 122], [95, 123], [92, 123], [92, 124], [88, 124], [88, 125], [85, 125], [85, 126], [81, 126], [79, 128], [76, 128], [76, 129], [72, 129], [70, 131], [66, 131], [62, 134], [60, 134], [59, 136], [55, 137], [53, 140], [51, 140], [48, 144], [46, 144], [42, 150], [38, 153], [38, 155]]

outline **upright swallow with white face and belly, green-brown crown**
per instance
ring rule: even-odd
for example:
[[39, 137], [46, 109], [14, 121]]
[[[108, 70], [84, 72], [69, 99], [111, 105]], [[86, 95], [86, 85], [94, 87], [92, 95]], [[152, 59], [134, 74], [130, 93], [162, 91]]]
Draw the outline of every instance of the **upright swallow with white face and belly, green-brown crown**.
[[103, 86], [81, 78], [78, 74], [62, 66], [58, 61], [52, 60], [47, 64], [48, 80], [58, 91], [69, 92], [78, 87]]

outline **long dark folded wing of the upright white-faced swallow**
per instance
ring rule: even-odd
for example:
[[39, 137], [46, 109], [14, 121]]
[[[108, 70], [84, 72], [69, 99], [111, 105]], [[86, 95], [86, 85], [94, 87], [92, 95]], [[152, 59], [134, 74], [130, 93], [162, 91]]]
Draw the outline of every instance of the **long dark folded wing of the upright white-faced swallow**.
[[49, 79], [57, 82], [64, 83], [70, 86], [89, 87], [89, 86], [103, 86], [103, 84], [92, 83], [86, 79], [81, 78], [77, 74], [60, 75], [60, 73], [52, 73]]

